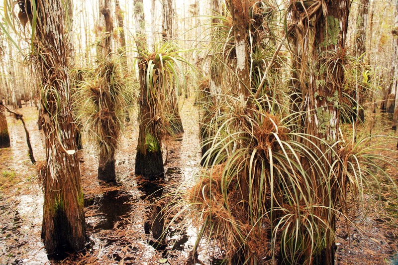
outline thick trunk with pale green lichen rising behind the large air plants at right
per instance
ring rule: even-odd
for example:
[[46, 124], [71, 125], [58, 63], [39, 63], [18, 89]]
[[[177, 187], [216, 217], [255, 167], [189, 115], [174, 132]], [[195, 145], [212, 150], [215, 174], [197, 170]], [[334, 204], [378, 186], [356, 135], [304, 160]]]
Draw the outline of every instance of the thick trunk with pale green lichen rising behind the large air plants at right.
[[[312, 49], [312, 65], [319, 72], [312, 72], [309, 80], [309, 93], [305, 95], [308, 100], [308, 113], [305, 119], [305, 133], [325, 140], [327, 143], [334, 143], [339, 137], [339, 104], [341, 102], [341, 90], [344, 82], [344, 68], [340, 56], [344, 56], [348, 14], [350, 2], [348, 0], [335, 0], [326, 3], [327, 16], [322, 15], [314, 25], [315, 43]], [[326, 34], [325, 34], [326, 33]], [[329, 51], [329, 52], [327, 52]], [[334, 56], [330, 51], [334, 51], [340, 56]], [[326, 56], [323, 54], [327, 54]], [[322, 65], [333, 65], [332, 68], [321, 71]], [[324, 165], [328, 168], [331, 161], [334, 161], [332, 152], [326, 152], [327, 146], [319, 140], [319, 146], [322, 153], [327, 153]], [[336, 147], [335, 147], [336, 148]], [[316, 151], [315, 151], [316, 152]], [[319, 157], [320, 153], [319, 153]], [[326, 170], [329, 172], [329, 170]], [[323, 180], [320, 180], [323, 181]], [[322, 183], [317, 187], [318, 198], [322, 198], [321, 205], [337, 207], [336, 198], [327, 198], [323, 195], [324, 186]], [[331, 194], [335, 195], [338, 187], [335, 183], [331, 187]], [[315, 253], [314, 265], [333, 265], [335, 254], [335, 213], [324, 212], [326, 223], [330, 226], [326, 230], [326, 244], [320, 253]]]

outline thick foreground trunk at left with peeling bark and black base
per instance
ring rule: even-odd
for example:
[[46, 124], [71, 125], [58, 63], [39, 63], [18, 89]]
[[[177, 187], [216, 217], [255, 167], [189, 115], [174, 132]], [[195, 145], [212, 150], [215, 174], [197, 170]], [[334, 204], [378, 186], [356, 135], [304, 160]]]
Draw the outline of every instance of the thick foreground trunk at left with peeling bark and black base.
[[84, 199], [79, 159], [73, 137], [70, 78], [67, 70], [67, 36], [64, 4], [40, 1], [36, 67], [43, 88], [46, 170], [42, 238], [50, 256], [81, 251], [85, 247]]

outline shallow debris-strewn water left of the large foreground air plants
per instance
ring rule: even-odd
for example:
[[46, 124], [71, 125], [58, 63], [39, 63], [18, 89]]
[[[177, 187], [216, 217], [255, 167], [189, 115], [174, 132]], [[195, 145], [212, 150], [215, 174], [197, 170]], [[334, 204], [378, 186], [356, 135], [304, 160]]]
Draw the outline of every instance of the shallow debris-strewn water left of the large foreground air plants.
[[[37, 130], [37, 111], [34, 107], [26, 106], [17, 111], [24, 115], [36, 160], [43, 161], [44, 135]], [[194, 171], [198, 169], [197, 111], [189, 101], [185, 101], [181, 116], [185, 133], [178, 138], [170, 137], [167, 145], [164, 144], [164, 157], [166, 149], [168, 151], [165, 176], [163, 183], [153, 186], [152, 190], [147, 183], [142, 183], [134, 175], [138, 136], [136, 123], [128, 126], [118, 146], [117, 184], [98, 182], [96, 150], [87, 144], [88, 139], [84, 140], [85, 149], [79, 151], [79, 156], [85, 195], [87, 251], [70, 257], [64, 263], [85, 261], [86, 264], [117, 264], [123, 261], [123, 264], [152, 264], [163, 257], [169, 257], [169, 252], [184, 252], [187, 235], [180, 237], [177, 231], [170, 229], [168, 233], [173, 234], [173, 239], [168, 239], [160, 248], [162, 250], [156, 251], [153, 247], [153, 235], [148, 233], [148, 230], [152, 230], [152, 226], [148, 228], [148, 222], [151, 223], [150, 219], [153, 218], [150, 214], [154, 209], [152, 204], [155, 197], [160, 195], [156, 194], [155, 189], [192, 178]], [[4, 181], [13, 178], [15, 183], [2, 190], [4, 195], [0, 211], [1, 223], [4, 225], [1, 226], [3, 237], [0, 243], [0, 264], [57, 264], [58, 262], [48, 261], [40, 240], [43, 196], [37, 183], [35, 168], [26, 156], [26, 140], [22, 125], [11, 116], [7, 116], [7, 123], [11, 148], [1, 150], [1, 169], [3, 172], [9, 171], [9, 176], [7, 175]], [[170, 188], [168, 189], [170, 191]], [[14, 190], [16, 192], [13, 192]], [[173, 244], [167, 246], [170, 242]]]

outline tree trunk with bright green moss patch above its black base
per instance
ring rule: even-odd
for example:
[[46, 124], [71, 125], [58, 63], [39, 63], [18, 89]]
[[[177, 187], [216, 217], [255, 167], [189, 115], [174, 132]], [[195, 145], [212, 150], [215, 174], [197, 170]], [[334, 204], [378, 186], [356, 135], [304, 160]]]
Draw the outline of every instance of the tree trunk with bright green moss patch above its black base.
[[[145, 35], [145, 18], [143, 0], [134, 0], [134, 15], [136, 26], [137, 48], [145, 50], [147, 41]], [[153, 178], [164, 174], [163, 157], [161, 149], [161, 138], [157, 135], [155, 121], [151, 119], [155, 115], [151, 113], [147, 98], [146, 87], [146, 67], [147, 62], [139, 59], [139, 79], [140, 79], [140, 113], [139, 113], [139, 135], [137, 153], [135, 156], [135, 174]]]

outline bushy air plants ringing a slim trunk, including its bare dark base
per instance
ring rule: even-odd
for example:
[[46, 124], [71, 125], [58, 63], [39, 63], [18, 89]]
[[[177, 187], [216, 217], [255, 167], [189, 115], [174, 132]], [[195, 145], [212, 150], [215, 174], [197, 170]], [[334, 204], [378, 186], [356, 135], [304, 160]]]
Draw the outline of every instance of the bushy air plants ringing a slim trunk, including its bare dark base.
[[118, 63], [101, 61], [77, 91], [78, 120], [95, 138], [99, 149], [99, 179], [115, 180], [114, 155], [117, 141], [133, 104], [133, 91], [122, 78]]

